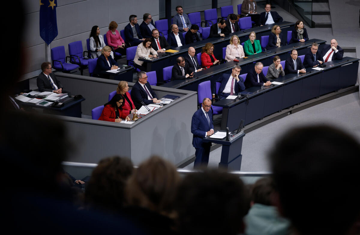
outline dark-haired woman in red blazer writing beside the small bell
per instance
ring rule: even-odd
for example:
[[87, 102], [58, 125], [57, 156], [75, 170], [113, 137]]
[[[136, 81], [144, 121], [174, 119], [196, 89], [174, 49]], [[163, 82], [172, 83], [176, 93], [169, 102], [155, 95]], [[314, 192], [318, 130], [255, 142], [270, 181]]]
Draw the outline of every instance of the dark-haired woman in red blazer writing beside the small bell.
[[111, 101], [105, 103], [103, 112], [98, 120], [120, 123], [121, 118], [123, 118], [130, 121], [130, 118], [125, 114], [125, 112], [122, 112], [123, 105], [124, 97], [122, 94], [116, 94]]

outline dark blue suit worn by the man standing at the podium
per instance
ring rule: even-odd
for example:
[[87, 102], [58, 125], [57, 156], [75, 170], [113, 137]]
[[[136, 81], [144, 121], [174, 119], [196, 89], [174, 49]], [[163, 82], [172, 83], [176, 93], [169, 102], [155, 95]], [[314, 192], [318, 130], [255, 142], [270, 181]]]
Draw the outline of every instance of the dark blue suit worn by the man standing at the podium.
[[193, 133], [193, 146], [195, 148], [196, 157], [194, 162], [194, 168], [199, 167], [200, 165], [207, 166], [209, 162], [211, 143], [203, 143], [202, 139], [205, 138], [206, 132], [208, 132], [210, 129], [214, 129], [214, 125], [212, 124], [211, 109], [208, 111], [208, 116], [210, 120], [210, 125], [202, 108], [199, 108], [194, 113], [191, 120], [191, 133]]

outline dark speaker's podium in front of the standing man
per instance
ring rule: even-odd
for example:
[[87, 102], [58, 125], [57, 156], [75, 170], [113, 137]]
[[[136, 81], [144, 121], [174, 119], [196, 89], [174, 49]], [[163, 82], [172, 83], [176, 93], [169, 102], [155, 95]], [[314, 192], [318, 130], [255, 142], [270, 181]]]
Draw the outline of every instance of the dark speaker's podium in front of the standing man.
[[203, 139], [203, 142], [211, 142], [222, 145], [219, 168], [240, 170], [242, 160], [241, 148], [243, 146], [244, 136], [245, 134], [240, 132], [230, 138], [229, 141], [226, 140], [226, 137], [223, 139], [212, 139], [210, 137], [206, 137]]

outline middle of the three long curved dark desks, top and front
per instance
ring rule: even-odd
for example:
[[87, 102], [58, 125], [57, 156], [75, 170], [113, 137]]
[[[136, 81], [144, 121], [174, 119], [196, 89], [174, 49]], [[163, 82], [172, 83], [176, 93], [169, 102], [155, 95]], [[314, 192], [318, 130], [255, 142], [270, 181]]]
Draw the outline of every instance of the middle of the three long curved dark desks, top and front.
[[[229, 71], [232, 69], [234, 65], [240, 65], [241, 66], [241, 74], [246, 74], [249, 69], [252, 68], [253, 63], [255, 62], [262, 62], [264, 66], [271, 65], [273, 63], [273, 57], [279, 56], [280, 59], [283, 61], [290, 57], [290, 53], [293, 48], [293, 46], [300, 46], [300, 48], [296, 48], [298, 51], [298, 55], [303, 55], [306, 53], [306, 49], [311, 46], [312, 43], [318, 43], [318, 44], [325, 44], [325, 40], [320, 39], [311, 39], [304, 43], [294, 43], [286, 46], [282, 46], [279, 48], [275, 48], [270, 50], [270, 52], [264, 54], [264, 53], [257, 53], [253, 54], [251, 56], [248, 56], [247, 59], [240, 58], [239, 62], [230, 61], [227, 63], [223, 63], [221, 65], [212, 66], [206, 70], [199, 71], [195, 74], [196, 77], [192, 79], [178, 79], [174, 81], [170, 81], [169, 83], [161, 85], [161, 87], [169, 87], [169, 88], [176, 88], [176, 89], [184, 89], [184, 90], [198, 90], [199, 83], [203, 81], [207, 81], [212, 79], [216, 79], [217, 77], [215, 75], [221, 75], [226, 71]], [[214, 77], [215, 76], [215, 77]]]

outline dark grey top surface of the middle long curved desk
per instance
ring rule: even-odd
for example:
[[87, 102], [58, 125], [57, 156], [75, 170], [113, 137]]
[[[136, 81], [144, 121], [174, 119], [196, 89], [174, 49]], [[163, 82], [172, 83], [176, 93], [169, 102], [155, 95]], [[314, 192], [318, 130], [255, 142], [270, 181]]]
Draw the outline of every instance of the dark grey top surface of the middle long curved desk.
[[[210, 67], [206, 70], [202, 70], [200, 72], [195, 73], [195, 77], [193, 79], [187, 80], [187, 79], [178, 79], [178, 80], [174, 80], [174, 81], [170, 81], [168, 83], [165, 83], [163, 85], [161, 85], [161, 87], [171, 87], [171, 88], [176, 88], [176, 89], [186, 89], [186, 87], [189, 87], [191, 84], [197, 83], [198, 81], [202, 81], [205, 80], [213, 75], [216, 74], [222, 74], [226, 71], [231, 70], [231, 68], [238, 64], [240, 66], [245, 66], [245, 65], [249, 65], [252, 64], [254, 62], [260, 62], [263, 61], [265, 59], [268, 58], [272, 58], [275, 55], [281, 55], [281, 54], [285, 54], [290, 52], [293, 48], [293, 46], [300, 46], [300, 48], [296, 48], [297, 50], [301, 50], [301, 49], [305, 49], [309, 46], [311, 46], [311, 44], [313, 42], [316, 42], [318, 44], [323, 44], [326, 43], [325, 40], [320, 40], [320, 39], [311, 39], [308, 40], [304, 43], [294, 43], [294, 44], [290, 44], [290, 45], [286, 45], [286, 46], [282, 46], [279, 48], [275, 48], [270, 50], [269, 53], [257, 53], [257, 54], [253, 54], [251, 56], [248, 56], [247, 59], [244, 58], [240, 58], [239, 62], [234, 62], [234, 61], [230, 61], [221, 65], [217, 65], [217, 66], [213, 66]], [[242, 74], [247, 73], [243, 72], [244, 69], [242, 69]]]

